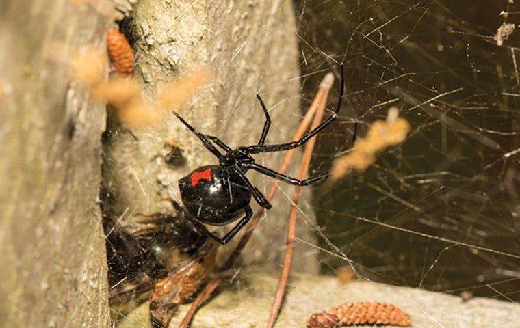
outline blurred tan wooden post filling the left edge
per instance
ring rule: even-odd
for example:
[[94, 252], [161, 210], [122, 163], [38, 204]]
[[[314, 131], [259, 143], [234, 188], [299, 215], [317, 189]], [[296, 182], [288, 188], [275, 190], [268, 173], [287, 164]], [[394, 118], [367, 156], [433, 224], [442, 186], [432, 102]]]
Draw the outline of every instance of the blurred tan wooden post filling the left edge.
[[109, 323], [97, 202], [105, 109], [68, 65], [103, 44], [101, 2], [0, 4], [0, 327]]

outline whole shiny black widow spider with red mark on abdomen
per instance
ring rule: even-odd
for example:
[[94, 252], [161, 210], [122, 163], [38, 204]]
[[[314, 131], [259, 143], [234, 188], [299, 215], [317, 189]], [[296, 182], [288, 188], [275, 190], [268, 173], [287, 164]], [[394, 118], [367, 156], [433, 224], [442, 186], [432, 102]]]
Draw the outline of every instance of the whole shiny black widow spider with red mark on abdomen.
[[[205, 148], [209, 150], [218, 159], [218, 165], [206, 165], [198, 167], [193, 172], [179, 180], [179, 189], [181, 190], [181, 199], [185, 205], [186, 215], [191, 223], [196, 226], [201, 232], [213, 238], [218, 243], [224, 245], [239, 232], [252, 216], [252, 209], [250, 204], [251, 196], [263, 208], [271, 208], [265, 196], [253, 186], [246, 177], [246, 172], [253, 169], [266, 176], [271, 176], [283, 182], [294, 184], [296, 186], [307, 186], [314, 182], [324, 180], [328, 174], [322, 174], [313, 178], [305, 180], [298, 180], [285, 174], [278, 173], [268, 167], [263, 167], [255, 163], [255, 159], [251, 154], [259, 154], [261, 152], [280, 152], [283, 150], [290, 150], [303, 146], [309, 139], [320, 133], [333, 120], [335, 120], [339, 111], [341, 110], [341, 98], [343, 98], [343, 89], [345, 88], [345, 72], [343, 71], [343, 64], [341, 64], [341, 85], [339, 87], [339, 99], [333, 115], [322, 122], [312, 131], [305, 134], [300, 140], [287, 143], [278, 143], [274, 145], [265, 145], [265, 137], [267, 137], [271, 125], [271, 119], [263, 100], [257, 94], [257, 98], [265, 114], [265, 123], [263, 124], [263, 131], [260, 139], [256, 145], [240, 146], [235, 149], [229, 148], [218, 137], [211, 135], [204, 135], [198, 132], [193, 126], [187, 123], [181, 116], [174, 112], [174, 114], [183, 122], [187, 128], [194, 133], [200, 141], [203, 142]], [[224, 154], [217, 149], [217, 147], [224, 150]], [[242, 214], [244, 217], [227, 232], [222, 238], [211, 233], [203, 225], [209, 224], [211, 226], [223, 226], [233, 221], [236, 221]]]

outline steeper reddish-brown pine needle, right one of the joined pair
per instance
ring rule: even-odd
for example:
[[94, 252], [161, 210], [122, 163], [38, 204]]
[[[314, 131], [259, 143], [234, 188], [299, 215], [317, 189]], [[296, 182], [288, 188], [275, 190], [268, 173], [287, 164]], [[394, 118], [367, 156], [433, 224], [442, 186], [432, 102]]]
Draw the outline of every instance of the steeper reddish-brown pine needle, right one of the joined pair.
[[[334, 76], [332, 73], [329, 73], [327, 74], [325, 79], [330, 80], [330, 84], [332, 84]], [[311, 126], [311, 130], [316, 128], [322, 122], [325, 107], [327, 105], [326, 100], [329, 91], [330, 90], [326, 90], [324, 97], [317, 105], [317, 112], [314, 117], [314, 122]], [[300, 165], [300, 180], [304, 180], [305, 178], [307, 178], [315, 143], [316, 138], [313, 137], [309, 140], [309, 142], [307, 142], [307, 145], [305, 145], [302, 163]], [[291, 210], [289, 212], [289, 223], [287, 228], [287, 247], [285, 248], [285, 256], [283, 258], [282, 272], [280, 274], [280, 279], [278, 279], [278, 288], [276, 290], [276, 295], [274, 297], [274, 301], [271, 307], [271, 313], [267, 325], [268, 328], [272, 328], [274, 326], [274, 323], [276, 323], [276, 318], [278, 318], [278, 312], [280, 312], [280, 308], [282, 305], [283, 296], [285, 295], [285, 287], [287, 286], [287, 280], [289, 279], [289, 271], [291, 271], [292, 254], [294, 251], [294, 238], [296, 236], [296, 206], [298, 206], [298, 202], [300, 202], [301, 196], [302, 187], [296, 187], [296, 189], [294, 189]]]

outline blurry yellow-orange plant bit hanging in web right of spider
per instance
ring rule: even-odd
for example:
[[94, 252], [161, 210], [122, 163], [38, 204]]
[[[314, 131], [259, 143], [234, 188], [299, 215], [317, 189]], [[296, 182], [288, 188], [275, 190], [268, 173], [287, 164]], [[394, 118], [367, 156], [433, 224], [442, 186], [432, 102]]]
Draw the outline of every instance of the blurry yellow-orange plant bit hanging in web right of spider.
[[397, 108], [388, 111], [387, 120], [378, 120], [369, 127], [367, 136], [357, 139], [352, 151], [339, 157], [330, 170], [332, 180], [346, 176], [352, 169], [363, 172], [376, 160], [376, 153], [402, 143], [410, 131], [410, 124], [399, 117]]

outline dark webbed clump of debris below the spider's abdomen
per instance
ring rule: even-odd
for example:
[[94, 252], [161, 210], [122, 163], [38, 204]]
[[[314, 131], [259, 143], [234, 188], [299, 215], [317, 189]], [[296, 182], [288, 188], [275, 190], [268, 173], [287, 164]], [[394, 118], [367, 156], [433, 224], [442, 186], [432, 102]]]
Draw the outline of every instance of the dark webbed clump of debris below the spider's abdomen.
[[103, 213], [111, 305], [125, 305], [146, 294], [206, 240], [180, 213], [155, 213], [131, 222], [111, 217], [106, 208]]

